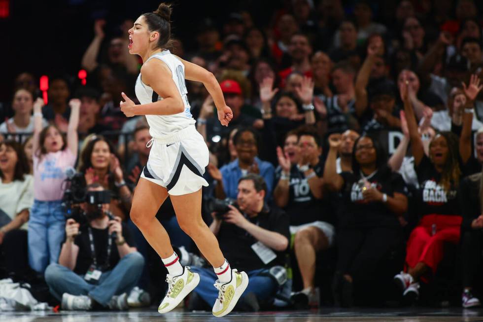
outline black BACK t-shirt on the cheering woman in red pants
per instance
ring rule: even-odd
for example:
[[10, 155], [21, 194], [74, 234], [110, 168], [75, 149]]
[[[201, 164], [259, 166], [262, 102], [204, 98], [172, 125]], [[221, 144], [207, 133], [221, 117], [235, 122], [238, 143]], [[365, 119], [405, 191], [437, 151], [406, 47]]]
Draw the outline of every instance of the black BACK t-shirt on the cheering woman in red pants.
[[419, 165], [414, 165], [419, 189], [415, 195], [416, 209], [420, 216], [423, 215], [460, 215], [457, 198], [457, 185], [451, 182], [448, 191], [439, 184], [441, 173], [424, 155]]

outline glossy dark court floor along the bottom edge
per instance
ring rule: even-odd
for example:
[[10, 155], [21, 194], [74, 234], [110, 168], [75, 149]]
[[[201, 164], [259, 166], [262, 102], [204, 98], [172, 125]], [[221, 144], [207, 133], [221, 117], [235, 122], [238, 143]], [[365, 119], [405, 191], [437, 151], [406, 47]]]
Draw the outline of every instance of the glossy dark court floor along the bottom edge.
[[476, 322], [483, 321], [483, 309], [321, 309], [318, 312], [264, 312], [231, 314], [215, 318], [209, 313], [171, 312], [160, 315], [156, 310], [130, 312], [0, 312], [0, 322]]

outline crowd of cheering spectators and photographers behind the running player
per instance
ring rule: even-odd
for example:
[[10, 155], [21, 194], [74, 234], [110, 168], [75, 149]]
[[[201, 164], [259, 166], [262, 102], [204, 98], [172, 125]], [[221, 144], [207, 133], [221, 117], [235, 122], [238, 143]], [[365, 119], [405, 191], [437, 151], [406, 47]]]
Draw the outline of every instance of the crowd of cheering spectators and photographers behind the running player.
[[[265, 25], [246, 10], [193, 22], [193, 52], [173, 39], [233, 110], [221, 126], [203, 85], [187, 82], [210, 151], [203, 216], [253, 284], [240, 310], [481, 304], [483, 8], [378, 3], [285, 1]], [[166, 272], [130, 219], [149, 127], [119, 108], [121, 92], [136, 101], [142, 62], [105, 23], [79, 62], [86, 85], [51, 75], [44, 102], [23, 72], [0, 124], [0, 273], [45, 281], [67, 308], [164, 296]], [[102, 191], [93, 208], [85, 196]], [[205, 282], [187, 308], [210, 307], [215, 277], [169, 198], [157, 218]]]

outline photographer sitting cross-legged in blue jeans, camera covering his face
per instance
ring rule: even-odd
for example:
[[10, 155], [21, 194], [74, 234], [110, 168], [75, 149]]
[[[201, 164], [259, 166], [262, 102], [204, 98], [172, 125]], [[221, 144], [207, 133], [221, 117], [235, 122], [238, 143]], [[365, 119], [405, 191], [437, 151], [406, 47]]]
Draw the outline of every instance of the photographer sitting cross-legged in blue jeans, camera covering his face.
[[67, 220], [59, 264], [47, 267], [45, 280], [64, 310], [127, 309], [126, 292], [138, 282], [144, 258], [121, 218], [110, 215], [109, 197], [99, 193], [104, 188], [94, 183], [87, 191], [88, 203], [81, 204], [87, 223]]

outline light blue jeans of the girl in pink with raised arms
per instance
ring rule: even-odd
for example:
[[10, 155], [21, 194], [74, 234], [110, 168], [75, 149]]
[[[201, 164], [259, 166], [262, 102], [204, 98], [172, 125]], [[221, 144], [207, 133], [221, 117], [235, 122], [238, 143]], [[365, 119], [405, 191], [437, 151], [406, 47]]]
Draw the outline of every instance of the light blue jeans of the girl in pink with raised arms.
[[50, 263], [57, 263], [66, 232], [62, 201], [34, 201], [29, 218], [29, 264], [43, 273]]

